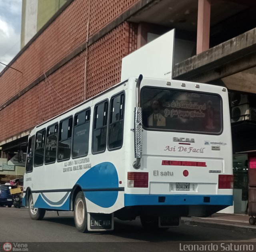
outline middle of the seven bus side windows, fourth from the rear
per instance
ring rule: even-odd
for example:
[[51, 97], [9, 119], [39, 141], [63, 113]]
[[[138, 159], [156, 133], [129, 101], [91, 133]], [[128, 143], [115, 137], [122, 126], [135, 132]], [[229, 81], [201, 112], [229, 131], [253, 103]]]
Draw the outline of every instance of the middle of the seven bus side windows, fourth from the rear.
[[71, 156], [71, 138], [72, 138], [73, 118], [67, 118], [60, 122], [59, 139], [58, 139], [58, 155], [57, 159], [70, 159]]

